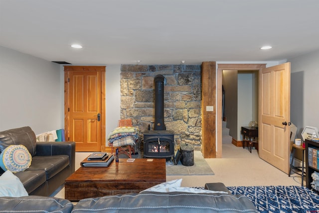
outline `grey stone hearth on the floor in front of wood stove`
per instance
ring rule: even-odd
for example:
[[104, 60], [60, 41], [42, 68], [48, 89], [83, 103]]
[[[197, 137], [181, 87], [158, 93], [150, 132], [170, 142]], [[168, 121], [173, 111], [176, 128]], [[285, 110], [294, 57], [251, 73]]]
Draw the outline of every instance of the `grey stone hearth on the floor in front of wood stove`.
[[173, 165], [171, 162], [166, 162], [166, 175], [214, 175], [213, 171], [203, 158], [200, 151], [194, 151], [194, 165], [183, 166], [181, 162]]

